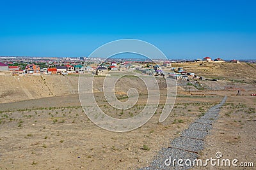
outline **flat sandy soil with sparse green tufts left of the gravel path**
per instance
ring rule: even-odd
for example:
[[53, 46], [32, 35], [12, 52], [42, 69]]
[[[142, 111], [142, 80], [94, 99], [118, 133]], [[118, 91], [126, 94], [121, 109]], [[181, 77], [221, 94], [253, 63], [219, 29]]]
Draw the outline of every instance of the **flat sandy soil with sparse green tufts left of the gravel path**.
[[[69, 103], [70, 99], [76, 100]], [[184, 97], [180, 97], [172, 117], [163, 124], [158, 123], [157, 113], [143, 127], [125, 133], [105, 131], [94, 125], [83, 113], [77, 96], [35, 99], [33, 104], [4, 104], [0, 167], [137, 169], [146, 166], [161, 147], [168, 145], [170, 138], [179, 136], [198, 117], [200, 107], [207, 109], [220, 99], [189, 97], [183, 103]], [[26, 108], [22, 108], [25, 104]], [[145, 150], [143, 145], [149, 149]]]

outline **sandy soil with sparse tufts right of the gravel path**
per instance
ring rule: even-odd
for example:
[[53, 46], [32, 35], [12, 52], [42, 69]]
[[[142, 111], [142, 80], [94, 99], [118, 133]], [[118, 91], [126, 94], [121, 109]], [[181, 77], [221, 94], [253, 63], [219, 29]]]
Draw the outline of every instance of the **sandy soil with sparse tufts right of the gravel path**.
[[[248, 92], [244, 92], [244, 95]], [[222, 159], [237, 159], [253, 162], [253, 167], [218, 167], [219, 169], [255, 169], [256, 162], [256, 98], [250, 96], [228, 96], [222, 107], [219, 120], [214, 124], [212, 135], [205, 140], [207, 145], [200, 159], [215, 158], [221, 152]], [[202, 167], [201, 167], [202, 168]], [[198, 169], [201, 169], [198, 168]], [[216, 169], [216, 167], [207, 167]]]

